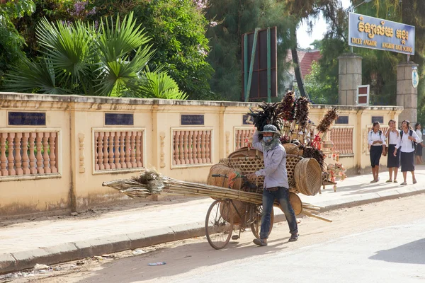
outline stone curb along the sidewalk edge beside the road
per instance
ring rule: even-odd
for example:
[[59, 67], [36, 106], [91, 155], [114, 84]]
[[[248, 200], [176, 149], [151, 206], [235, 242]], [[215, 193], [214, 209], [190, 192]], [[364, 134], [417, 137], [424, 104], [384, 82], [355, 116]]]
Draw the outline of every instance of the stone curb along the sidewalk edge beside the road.
[[[367, 199], [361, 199], [361, 197], [359, 197], [359, 200], [339, 204], [332, 204], [329, 202], [328, 205], [324, 206], [321, 212], [329, 212], [335, 209], [354, 207], [384, 200], [393, 200], [399, 197], [409, 197], [422, 193], [425, 193], [425, 189], [416, 190], [414, 187], [403, 187], [403, 189], [396, 190], [395, 192], [380, 192], [381, 195], [377, 193], [374, 197], [369, 197]], [[286, 221], [285, 215], [281, 213], [275, 214], [274, 221]], [[144, 248], [160, 243], [200, 236], [205, 236], [205, 225], [203, 222], [169, 226], [163, 229], [128, 233], [118, 236], [101, 237], [88, 241], [62, 243], [57, 246], [37, 248], [16, 253], [4, 253], [0, 254], [0, 274], [30, 269], [37, 263], [55, 265], [60, 262], [89, 258], [94, 255], [116, 253], [123, 250], [134, 250], [136, 248]]]

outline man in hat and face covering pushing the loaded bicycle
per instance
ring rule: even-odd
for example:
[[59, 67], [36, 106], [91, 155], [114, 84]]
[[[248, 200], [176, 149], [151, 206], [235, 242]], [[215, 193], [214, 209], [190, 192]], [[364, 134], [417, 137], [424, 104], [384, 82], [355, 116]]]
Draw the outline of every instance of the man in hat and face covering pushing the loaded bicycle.
[[[259, 134], [263, 134], [260, 140]], [[262, 132], [255, 132], [252, 139], [252, 148], [263, 152], [264, 169], [249, 174], [253, 180], [265, 176], [263, 183], [263, 214], [261, 215], [260, 238], [254, 239], [259, 246], [267, 246], [268, 231], [270, 231], [270, 217], [274, 200], [280, 203], [280, 209], [288, 221], [289, 241], [297, 241], [298, 227], [295, 212], [289, 202], [288, 172], [286, 171], [286, 151], [280, 144], [280, 133], [274, 125], [265, 125]]]

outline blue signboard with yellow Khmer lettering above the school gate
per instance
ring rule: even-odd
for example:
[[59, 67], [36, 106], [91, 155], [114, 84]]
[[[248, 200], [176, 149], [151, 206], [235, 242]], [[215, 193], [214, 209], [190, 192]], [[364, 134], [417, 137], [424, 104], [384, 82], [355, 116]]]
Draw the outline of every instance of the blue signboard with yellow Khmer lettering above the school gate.
[[413, 55], [414, 35], [412, 25], [350, 13], [348, 45]]

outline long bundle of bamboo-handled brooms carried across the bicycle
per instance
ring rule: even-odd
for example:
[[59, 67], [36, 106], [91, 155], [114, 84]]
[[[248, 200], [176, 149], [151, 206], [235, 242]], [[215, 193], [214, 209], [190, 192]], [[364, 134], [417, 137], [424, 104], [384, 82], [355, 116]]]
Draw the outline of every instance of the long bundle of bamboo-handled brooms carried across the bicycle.
[[[244, 192], [242, 190], [227, 189], [214, 185], [185, 182], [159, 175], [159, 173], [154, 171], [146, 171], [142, 173], [139, 178], [113, 180], [110, 182], [103, 182], [102, 185], [104, 187], [112, 187], [115, 190], [119, 190], [132, 198], [166, 193], [166, 195], [205, 196], [240, 200], [253, 204], [262, 204], [263, 202], [263, 196], [256, 192]], [[278, 202], [275, 202], [275, 206], [278, 205]], [[330, 219], [315, 214], [319, 213], [320, 209], [321, 207], [312, 204], [302, 204], [302, 213], [305, 215], [331, 222]]]

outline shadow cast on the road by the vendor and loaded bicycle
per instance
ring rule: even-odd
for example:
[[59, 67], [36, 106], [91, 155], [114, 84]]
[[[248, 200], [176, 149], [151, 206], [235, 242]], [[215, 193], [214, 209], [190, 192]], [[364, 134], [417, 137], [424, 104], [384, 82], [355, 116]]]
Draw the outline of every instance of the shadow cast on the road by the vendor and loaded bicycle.
[[[234, 262], [234, 260], [247, 260], [254, 256], [278, 253], [291, 244], [287, 241], [288, 238], [271, 240], [266, 247], [255, 246], [252, 242], [230, 242], [222, 250], [212, 249], [206, 241], [187, 244], [107, 263], [101, 270], [93, 272], [91, 277], [81, 279], [79, 282], [143, 282], [181, 275], [198, 267], [208, 267], [223, 262], [238, 265], [240, 262]], [[166, 262], [166, 265], [148, 266], [149, 262]]]

